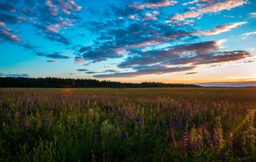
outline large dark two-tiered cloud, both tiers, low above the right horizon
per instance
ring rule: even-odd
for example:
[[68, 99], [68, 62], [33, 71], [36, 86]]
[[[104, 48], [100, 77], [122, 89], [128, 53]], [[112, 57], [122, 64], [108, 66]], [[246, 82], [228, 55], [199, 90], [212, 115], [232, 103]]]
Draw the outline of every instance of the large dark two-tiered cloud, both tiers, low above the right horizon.
[[[118, 64], [119, 68], [131, 68], [141, 74], [151, 70], [152, 73], [170, 72], [166, 67], [200, 67], [204, 64], [228, 63], [239, 61], [251, 56], [247, 51], [218, 51], [223, 40], [204, 41], [192, 44], [181, 44], [163, 49], [136, 51], [134, 56]], [[144, 70], [143, 70], [144, 69]], [[182, 69], [182, 68], [181, 68]], [[187, 68], [185, 70], [188, 70]], [[137, 73], [117, 73], [114, 76], [137, 76]], [[150, 72], [148, 72], [151, 74]], [[114, 77], [112, 76], [112, 77]], [[98, 77], [98, 75], [96, 75]], [[101, 77], [101, 75], [100, 75]]]

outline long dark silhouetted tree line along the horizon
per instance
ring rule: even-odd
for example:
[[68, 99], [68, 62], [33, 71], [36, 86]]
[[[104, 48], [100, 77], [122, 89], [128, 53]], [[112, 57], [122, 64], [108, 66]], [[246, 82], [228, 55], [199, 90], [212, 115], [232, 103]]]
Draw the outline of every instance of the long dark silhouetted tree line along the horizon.
[[164, 84], [162, 82], [122, 83], [85, 78], [24, 78], [0, 77], [1, 88], [195, 88], [194, 84]]

